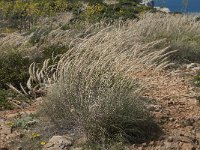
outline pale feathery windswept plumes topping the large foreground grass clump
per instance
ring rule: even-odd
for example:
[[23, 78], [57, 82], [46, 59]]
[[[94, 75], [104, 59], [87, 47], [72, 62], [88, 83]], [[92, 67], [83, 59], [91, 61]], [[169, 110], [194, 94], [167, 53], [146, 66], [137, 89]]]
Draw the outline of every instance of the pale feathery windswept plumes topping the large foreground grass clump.
[[[74, 44], [72, 41], [71, 49], [63, 54], [56, 64], [49, 66], [47, 63], [49, 60], [46, 60], [40, 70], [35, 68], [35, 65], [31, 65], [28, 87], [30, 87], [30, 81], [39, 81], [40, 84], [45, 82], [46, 85], [50, 84], [50, 82], [47, 84], [49, 80], [55, 82], [62, 75], [61, 70], [74, 58], [78, 61], [77, 65], [82, 68], [89, 66], [93, 69], [100, 69], [100, 63], [103, 68], [107, 64], [112, 64], [110, 66], [114, 71], [127, 74], [131, 71], [140, 71], [143, 67], [157, 67], [158, 69], [168, 67], [170, 64], [168, 57], [176, 52], [171, 50], [170, 46], [157, 48], [165, 44], [166, 39], [147, 44], [138, 41], [135, 31], [127, 22], [119, 21], [114, 25], [103, 25], [103, 28], [101, 26], [102, 24], [92, 26], [85, 31], [86, 36], [75, 38], [73, 41], [78, 40], [79, 42]], [[57, 71], [55, 71], [56, 67]], [[50, 70], [54, 72], [48, 75]], [[45, 76], [44, 72], [46, 72]]]

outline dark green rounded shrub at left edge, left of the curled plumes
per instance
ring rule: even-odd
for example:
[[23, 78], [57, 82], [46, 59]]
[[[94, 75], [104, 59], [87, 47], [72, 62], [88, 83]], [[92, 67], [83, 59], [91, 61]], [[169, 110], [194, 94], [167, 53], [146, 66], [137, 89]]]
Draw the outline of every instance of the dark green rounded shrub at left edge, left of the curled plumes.
[[30, 60], [23, 57], [20, 52], [10, 52], [0, 56], [0, 88], [7, 88], [6, 84], [11, 83], [15, 87], [20, 87], [28, 80], [28, 68]]

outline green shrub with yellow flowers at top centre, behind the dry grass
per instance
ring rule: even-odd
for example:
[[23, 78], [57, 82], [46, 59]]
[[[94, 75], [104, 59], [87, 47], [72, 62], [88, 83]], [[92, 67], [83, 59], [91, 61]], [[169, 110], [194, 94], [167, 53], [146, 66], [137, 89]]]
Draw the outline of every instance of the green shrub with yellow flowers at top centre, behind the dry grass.
[[98, 22], [101, 19], [135, 19], [138, 18], [138, 14], [152, 10], [150, 7], [138, 5], [136, 1], [127, 2], [120, 1], [117, 4], [107, 5], [105, 3], [89, 3], [84, 11], [81, 11], [77, 15], [78, 20], [84, 20], [87, 22]]

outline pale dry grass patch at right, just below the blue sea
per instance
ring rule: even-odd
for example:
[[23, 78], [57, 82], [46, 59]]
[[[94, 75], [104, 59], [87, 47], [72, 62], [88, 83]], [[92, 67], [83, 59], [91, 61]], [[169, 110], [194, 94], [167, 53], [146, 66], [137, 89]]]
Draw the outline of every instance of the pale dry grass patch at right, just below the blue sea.
[[163, 45], [177, 50], [171, 61], [199, 62], [200, 22], [195, 16], [147, 13], [138, 22], [131, 21], [131, 26], [143, 42], [166, 39]]

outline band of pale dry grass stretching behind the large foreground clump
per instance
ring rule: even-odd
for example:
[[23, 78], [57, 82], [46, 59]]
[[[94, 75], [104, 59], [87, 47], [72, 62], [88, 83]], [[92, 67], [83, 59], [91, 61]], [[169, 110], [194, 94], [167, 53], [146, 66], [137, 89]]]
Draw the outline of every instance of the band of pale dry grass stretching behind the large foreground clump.
[[[115, 21], [114, 23], [112, 22], [112, 24], [115, 27], [121, 26], [120, 32], [123, 32], [122, 35], [119, 35], [119, 33], [118, 35], [115, 34], [115, 36], [119, 36], [118, 41], [121, 40], [120, 43], [132, 42], [134, 45], [136, 43], [137, 45], [141, 45], [144, 43], [163, 40], [161, 44], [156, 46], [158, 50], [168, 46], [169, 50], [167, 50], [167, 52], [177, 50], [176, 53], [171, 55], [171, 62], [196, 62], [200, 58], [200, 46], [198, 42], [200, 25], [193, 16], [145, 13], [140, 16], [139, 20], [129, 20], [123, 23], [119, 22], [120, 21]], [[24, 36], [21, 36], [18, 33], [13, 33], [0, 38], [0, 51], [6, 49], [8, 45], [11, 45], [19, 51], [32, 55], [34, 53], [40, 53], [44, 47], [49, 45], [59, 44], [62, 46], [70, 45], [72, 47], [85, 39], [87, 40], [89, 36], [95, 35], [96, 32], [104, 28], [105, 30], [108, 30], [106, 28], [109, 26], [109, 23], [105, 23], [104, 21], [92, 26], [91, 24], [80, 25], [76, 22], [73, 24], [74, 27], [71, 27], [71, 24], [69, 28], [67, 27], [67, 30], [63, 30], [62, 26], [59, 27], [57, 25], [48, 31], [48, 34], [45, 34], [45, 36], [38, 35], [37, 32], [40, 30], [46, 31], [47, 28], [49, 28], [48, 26], [42, 26], [41, 29], [38, 27], [37, 30], [33, 30], [29, 35], [25, 34]], [[68, 26], [67, 23], [66, 25]], [[113, 27], [110, 28], [112, 29]], [[124, 36], [125, 39], [122, 40], [122, 36]], [[130, 39], [128, 39], [129, 36]], [[114, 37], [113, 40], [117, 40], [117, 37]], [[31, 43], [32, 41], [34, 41], [34, 44]], [[132, 50], [129, 49], [129, 51]]]

